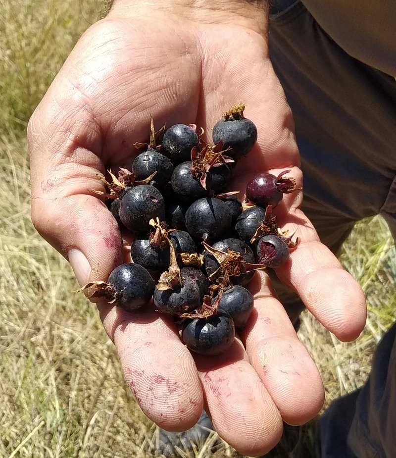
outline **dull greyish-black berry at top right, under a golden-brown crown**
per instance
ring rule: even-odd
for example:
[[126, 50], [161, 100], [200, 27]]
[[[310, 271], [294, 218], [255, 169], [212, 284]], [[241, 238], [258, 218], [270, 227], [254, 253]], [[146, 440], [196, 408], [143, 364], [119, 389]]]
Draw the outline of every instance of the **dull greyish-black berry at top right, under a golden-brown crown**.
[[257, 128], [250, 119], [236, 117], [220, 119], [212, 132], [213, 143], [223, 142], [223, 149], [231, 148], [225, 154], [234, 160], [245, 156], [257, 141]]

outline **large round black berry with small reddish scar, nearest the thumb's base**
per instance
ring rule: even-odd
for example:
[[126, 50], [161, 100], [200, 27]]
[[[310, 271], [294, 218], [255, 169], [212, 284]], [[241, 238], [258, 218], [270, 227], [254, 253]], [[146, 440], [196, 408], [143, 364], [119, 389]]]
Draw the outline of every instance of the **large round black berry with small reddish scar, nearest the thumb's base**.
[[165, 217], [164, 199], [151, 185], [129, 188], [120, 204], [120, 219], [124, 226], [136, 234], [148, 233], [150, 219]]

